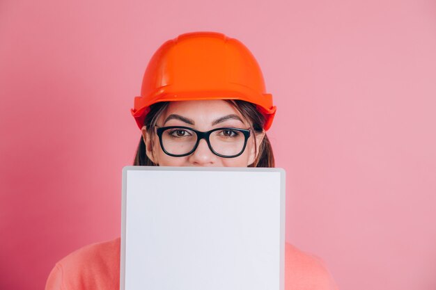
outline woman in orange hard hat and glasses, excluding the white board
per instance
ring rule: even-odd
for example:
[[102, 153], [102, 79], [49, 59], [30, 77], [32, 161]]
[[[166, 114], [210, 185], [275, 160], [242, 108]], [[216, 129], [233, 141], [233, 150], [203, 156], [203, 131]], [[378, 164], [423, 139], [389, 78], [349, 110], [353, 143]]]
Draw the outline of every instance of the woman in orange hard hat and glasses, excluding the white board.
[[[134, 165], [274, 167], [265, 131], [276, 107], [247, 47], [221, 33], [164, 43], [143, 77], [132, 115], [141, 129]], [[336, 289], [322, 261], [286, 243], [285, 289]], [[59, 261], [46, 290], [118, 290], [120, 239]]]

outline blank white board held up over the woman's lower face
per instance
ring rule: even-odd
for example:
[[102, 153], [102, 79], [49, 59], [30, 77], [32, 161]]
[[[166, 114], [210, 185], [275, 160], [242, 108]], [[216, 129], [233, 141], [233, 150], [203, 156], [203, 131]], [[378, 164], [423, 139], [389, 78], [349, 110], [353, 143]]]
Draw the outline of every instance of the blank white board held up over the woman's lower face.
[[283, 290], [281, 168], [123, 168], [120, 289]]

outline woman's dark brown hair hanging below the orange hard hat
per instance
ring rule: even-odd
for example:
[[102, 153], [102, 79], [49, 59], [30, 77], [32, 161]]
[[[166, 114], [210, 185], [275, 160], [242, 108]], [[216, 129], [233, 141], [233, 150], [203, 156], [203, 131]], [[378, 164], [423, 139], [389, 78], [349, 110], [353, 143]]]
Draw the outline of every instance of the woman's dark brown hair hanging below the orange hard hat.
[[[230, 102], [241, 113], [241, 115], [249, 122], [250, 129], [256, 133], [263, 131], [263, 125], [265, 124], [265, 117], [260, 113], [255, 104], [244, 102], [240, 100], [226, 100]], [[148, 134], [153, 136], [155, 125], [160, 115], [164, 113], [169, 102], [159, 102], [150, 106], [150, 112], [146, 115], [144, 125], [147, 128]], [[254, 145], [256, 146], [256, 138], [254, 138]], [[153, 146], [153, 144], [152, 144]], [[139, 139], [137, 147], [137, 153], [134, 157], [134, 166], [158, 166], [153, 163], [146, 154], [146, 145], [143, 138]], [[274, 154], [272, 154], [272, 147], [267, 135], [262, 140], [259, 147], [259, 152], [256, 152], [256, 160], [250, 164], [249, 167], [274, 167]]]

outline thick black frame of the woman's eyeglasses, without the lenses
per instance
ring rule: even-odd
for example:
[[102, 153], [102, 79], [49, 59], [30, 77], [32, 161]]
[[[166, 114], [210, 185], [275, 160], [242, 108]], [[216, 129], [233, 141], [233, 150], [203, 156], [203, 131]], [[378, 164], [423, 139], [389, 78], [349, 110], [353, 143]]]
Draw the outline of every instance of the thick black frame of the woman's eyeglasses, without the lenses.
[[[189, 131], [193, 131], [196, 134], [196, 136], [197, 136], [197, 140], [196, 140], [196, 143], [195, 143], [194, 147], [192, 148], [191, 151], [189, 151], [189, 152], [187, 152], [185, 154], [171, 154], [171, 153], [169, 153], [168, 151], [165, 150], [164, 143], [162, 141], [162, 134], [167, 129], [176, 129], [176, 128], [188, 129]], [[244, 134], [245, 140], [244, 140], [244, 146], [242, 147], [241, 152], [239, 152], [238, 154], [235, 154], [235, 155], [231, 155], [231, 156], [222, 155], [222, 154], [219, 154], [218, 152], [215, 152], [215, 150], [213, 150], [213, 148], [212, 148], [212, 145], [210, 145], [209, 137], [210, 137], [210, 134], [212, 134], [215, 131], [219, 131], [219, 130], [233, 130], [233, 131], [238, 131], [238, 132], [241, 132], [242, 134]], [[223, 158], [235, 158], [235, 157], [238, 157], [242, 153], [244, 153], [245, 147], [247, 147], [247, 140], [250, 137], [250, 131], [251, 130], [249, 130], [249, 129], [241, 129], [241, 128], [233, 128], [233, 127], [215, 128], [215, 129], [212, 129], [210, 131], [205, 131], [205, 132], [198, 131], [196, 129], [192, 129], [191, 127], [185, 127], [185, 126], [156, 127], [156, 133], [157, 133], [157, 136], [159, 137], [160, 147], [162, 148], [162, 150], [164, 151], [164, 153], [166, 155], [173, 156], [173, 157], [183, 157], [183, 156], [188, 156], [188, 155], [194, 153], [194, 151], [197, 149], [198, 144], [200, 143], [201, 139], [205, 139], [206, 143], [208, 143], [208, 147], [209, 147], [210, 151], [212, 151], [213, 154], [215, 154], [215, 155], [217, 155], [219, 157], [223, 157]]]

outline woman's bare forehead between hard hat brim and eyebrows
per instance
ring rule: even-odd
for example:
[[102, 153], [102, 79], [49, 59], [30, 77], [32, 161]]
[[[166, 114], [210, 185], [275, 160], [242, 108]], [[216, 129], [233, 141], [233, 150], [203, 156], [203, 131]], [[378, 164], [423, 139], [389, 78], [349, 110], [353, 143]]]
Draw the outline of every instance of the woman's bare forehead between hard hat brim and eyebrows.
[[166, 119], [171, 114], [182, 115], [196, 122], [210, 122], [231, 114], [244, 120], [233, 104], [222, 99], [170, 102], [161, 118]]

